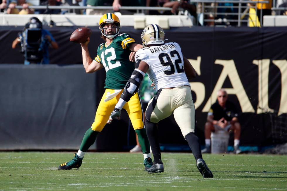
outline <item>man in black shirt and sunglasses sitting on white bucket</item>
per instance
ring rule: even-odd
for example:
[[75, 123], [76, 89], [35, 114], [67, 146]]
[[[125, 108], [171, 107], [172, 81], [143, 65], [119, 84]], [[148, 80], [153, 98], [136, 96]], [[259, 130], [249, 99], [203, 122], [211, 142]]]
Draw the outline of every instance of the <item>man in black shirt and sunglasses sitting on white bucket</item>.
[[232, 102], [228, 101], [228, 94], [224, 89], [218, 90], [217, 101], [212, 104], [205, 123], [205, 149], [202, 153], [210, 153], [211, 132], [234, 131], [234, 153], [239, 154], [240, 124], [238, 114]]

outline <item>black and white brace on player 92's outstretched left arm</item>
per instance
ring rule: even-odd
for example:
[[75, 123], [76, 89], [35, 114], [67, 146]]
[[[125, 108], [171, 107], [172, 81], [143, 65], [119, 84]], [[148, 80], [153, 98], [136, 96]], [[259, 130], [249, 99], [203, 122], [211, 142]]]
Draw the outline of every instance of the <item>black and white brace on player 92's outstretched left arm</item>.
[[131, 97], [138, 91], [141, 80], [143, 80], [144, 73], [141, 70], [135, 69], [131, 74], [131, 78], [124, 87], [124, 92], [121, 98], [124, 101], [129, 101]]

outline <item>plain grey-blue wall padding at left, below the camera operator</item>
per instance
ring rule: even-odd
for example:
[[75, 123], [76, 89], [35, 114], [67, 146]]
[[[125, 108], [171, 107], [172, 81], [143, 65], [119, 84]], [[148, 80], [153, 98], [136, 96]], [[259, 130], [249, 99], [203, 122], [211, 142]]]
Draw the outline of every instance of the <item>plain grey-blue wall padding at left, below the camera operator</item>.
[[93, 122], [95, 74], [81, 65], [0, 67], [1, 149], [77, 147]]

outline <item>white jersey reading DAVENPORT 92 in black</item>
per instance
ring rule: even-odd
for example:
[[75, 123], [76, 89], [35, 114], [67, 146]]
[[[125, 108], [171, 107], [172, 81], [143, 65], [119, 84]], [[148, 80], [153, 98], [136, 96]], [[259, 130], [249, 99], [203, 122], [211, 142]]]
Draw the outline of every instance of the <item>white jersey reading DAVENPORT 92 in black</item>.
[[148, 64], [147, 74], [155, 84], [156, 91], [161, 88], [190, 86], [183, 69], [181, 48], [176, 42], [139, 49], [135, 61], [139, 60]]

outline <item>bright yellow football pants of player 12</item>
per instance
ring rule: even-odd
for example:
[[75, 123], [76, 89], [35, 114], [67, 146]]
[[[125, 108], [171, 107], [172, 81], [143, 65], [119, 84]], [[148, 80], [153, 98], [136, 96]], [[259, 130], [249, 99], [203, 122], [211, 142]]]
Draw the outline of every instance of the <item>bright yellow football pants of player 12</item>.
[[[110, 117], [110, 114], [114, 110], [119, 98], [122, 94], [123, 90], [117, 94], [116, 97], [111, 100], [105, 102], [106, 95], [115, 93], [115, 90], [106, 89], [100, 104], [98, 106], [95, 121], [92, 124], [92, 130], [94, 131], [102, 131], [105, 127], [107, 120]], [[123, 109], [125, 109], [131, 119], [131, 124], [134, 127], [134, 130], [143, 128], [143, 111], [141, 108], [141, 101], [139, 98], [139, 93], [134, 94], [131, 99], [124, 105]]]

